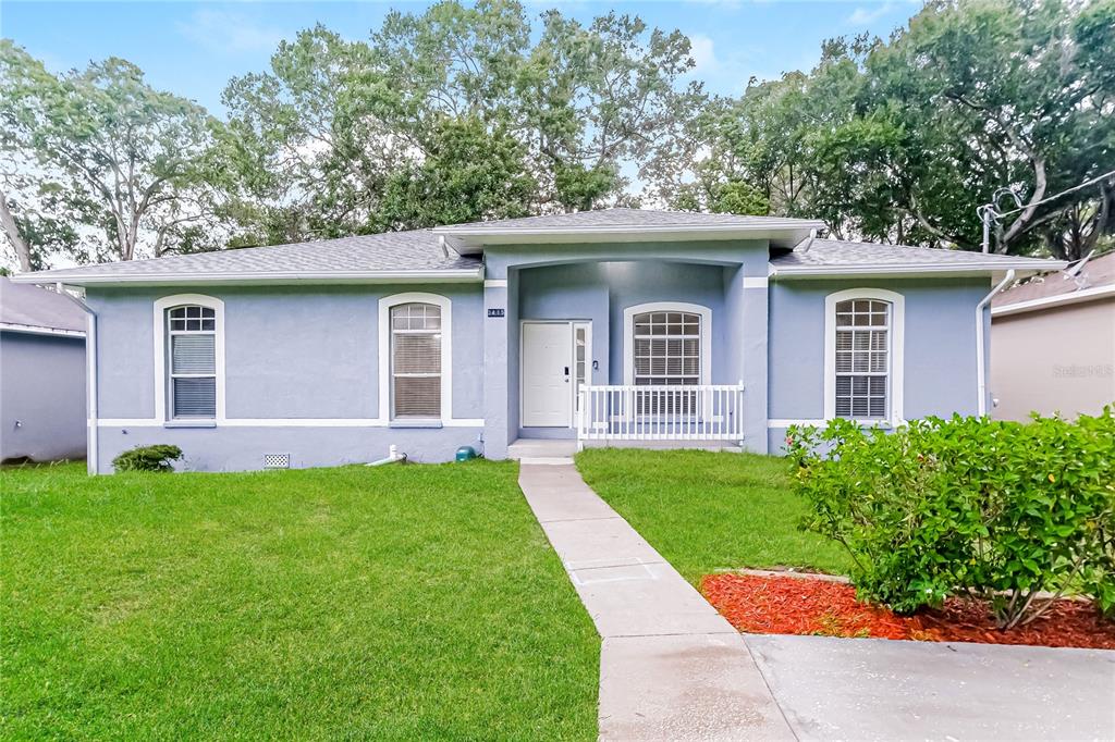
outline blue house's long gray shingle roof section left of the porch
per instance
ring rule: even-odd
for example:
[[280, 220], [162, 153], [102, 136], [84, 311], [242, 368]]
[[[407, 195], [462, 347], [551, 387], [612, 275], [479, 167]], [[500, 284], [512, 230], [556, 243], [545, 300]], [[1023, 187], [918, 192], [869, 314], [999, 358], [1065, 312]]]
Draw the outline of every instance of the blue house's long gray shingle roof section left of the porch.
[[171, 255], [36, 273], [43, 282], [96, 274], [107, 279], [197, 279], [212, 275], [266, 277], [374, 274], [377, 272], [476, 271], [481, 262], [443, 252], [429, 230]]

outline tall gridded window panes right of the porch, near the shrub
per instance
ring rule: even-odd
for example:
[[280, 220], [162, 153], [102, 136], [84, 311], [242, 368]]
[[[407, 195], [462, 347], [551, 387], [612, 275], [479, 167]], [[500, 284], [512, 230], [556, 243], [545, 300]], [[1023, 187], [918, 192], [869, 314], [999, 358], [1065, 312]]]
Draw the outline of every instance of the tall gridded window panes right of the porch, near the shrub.
[[892, 304], [878, 299], [837, 302], [835, 414], [890, 417]]

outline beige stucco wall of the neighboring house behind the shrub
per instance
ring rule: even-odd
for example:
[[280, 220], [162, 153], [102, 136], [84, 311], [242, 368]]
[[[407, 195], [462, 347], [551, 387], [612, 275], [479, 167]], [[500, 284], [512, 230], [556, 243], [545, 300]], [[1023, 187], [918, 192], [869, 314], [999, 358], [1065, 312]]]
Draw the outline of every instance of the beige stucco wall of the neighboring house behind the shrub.
[[1115, 300], [991, 321], [992, 417], [1095, 414], [1115, 401]]

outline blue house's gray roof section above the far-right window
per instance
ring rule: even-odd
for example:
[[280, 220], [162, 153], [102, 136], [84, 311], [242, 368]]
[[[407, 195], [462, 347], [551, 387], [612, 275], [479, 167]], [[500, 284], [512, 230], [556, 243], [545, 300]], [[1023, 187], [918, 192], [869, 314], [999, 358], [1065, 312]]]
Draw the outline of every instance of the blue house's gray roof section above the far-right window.
[[880, 245], [844, 240], [804, 240], [770, 260], [773, 275], [987, 274], [1009, 270], [1059, 270], [1064, 262], [963, 250]]

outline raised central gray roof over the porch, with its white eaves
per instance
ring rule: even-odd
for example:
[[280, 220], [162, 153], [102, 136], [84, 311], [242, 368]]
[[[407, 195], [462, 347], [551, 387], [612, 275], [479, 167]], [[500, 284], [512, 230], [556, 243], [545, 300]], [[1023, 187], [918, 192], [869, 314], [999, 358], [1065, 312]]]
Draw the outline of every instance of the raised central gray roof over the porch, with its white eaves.
[[483, 252], [485, 245], [639, 242], [646, 241], [648, 235], [656, 241], [769, 240], [772, 244], [789, 247], [811, 231], [824, 226], [825, 223], [818, 219], [780, 216], [603, 208], [497, 222], [453, 224], [434, 227], [434, 234], [448, 237], [455, 250], [467, 254]]

